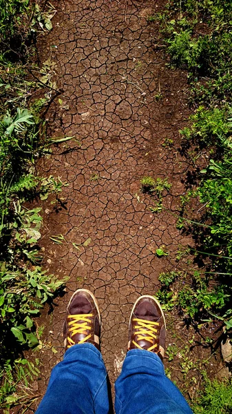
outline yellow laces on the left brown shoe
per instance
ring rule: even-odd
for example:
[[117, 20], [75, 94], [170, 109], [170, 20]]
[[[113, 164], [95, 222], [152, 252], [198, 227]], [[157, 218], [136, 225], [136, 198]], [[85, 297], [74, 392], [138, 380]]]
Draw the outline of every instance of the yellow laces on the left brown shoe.
[[67, 317], [69, 319], [72, 319], [70, 322], [67, 323], [70, 333], [70, 337], [67, 337], [67, 348], [70, 348], [70, 346], [75, 345], [76, 342], [72, 339], [76, 333], [81, 333], [83, 335], [87, 335], [85, 338], [81, 339], [81, 341], [78, 342], [78, 344], [83, 344], [83, 342], [87, 341], [91, 337], [91, 335], [88, 335], [89, 330], [91, 330], [91, 326], [88, 326], [88, 324], [91, 324], [91, 319], [88, 319], [89, 317], [92, 317], [92, 313], [87, 313], [83, 315], [68, 315]]

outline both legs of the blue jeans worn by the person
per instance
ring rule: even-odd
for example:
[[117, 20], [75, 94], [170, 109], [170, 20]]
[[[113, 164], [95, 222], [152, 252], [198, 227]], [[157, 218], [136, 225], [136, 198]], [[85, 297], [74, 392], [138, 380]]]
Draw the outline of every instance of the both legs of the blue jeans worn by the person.
[[[192, 414], [178, 388], [165, 375], [160, 358], [149, 351], [127, 352], [116, 380], [116, 414]], [[110, 411], [107, 372], [92, 344], [65, 352], [50, 377], [36, 414], [107, 414]]]

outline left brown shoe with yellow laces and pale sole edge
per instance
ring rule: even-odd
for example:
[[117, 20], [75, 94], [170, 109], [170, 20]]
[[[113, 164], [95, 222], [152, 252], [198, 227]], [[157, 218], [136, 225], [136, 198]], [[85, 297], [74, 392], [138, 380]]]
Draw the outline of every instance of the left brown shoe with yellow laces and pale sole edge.
[[65, 351], [76, 344], [93, 344], [100, 350], [101, 315], [94, 295], [78, 289], [67, 305], [63, 339]]

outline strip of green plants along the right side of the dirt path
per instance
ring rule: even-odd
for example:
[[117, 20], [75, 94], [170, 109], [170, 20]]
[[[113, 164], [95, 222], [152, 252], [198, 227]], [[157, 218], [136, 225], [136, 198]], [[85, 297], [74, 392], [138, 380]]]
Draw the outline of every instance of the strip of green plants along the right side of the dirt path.
[[[160, 275], [158, 297], [166, 310], [178, 308], [198, 329], [222, 321], [232, 328], [232, 3], [229, 0], [168, 0], [156, 14], [169, 66], [187, 71], [194, 112], [180, 130], [182, 152], [192, 165], [181, 197], [178, 228], [191, 232], [196, 249], [178, 252], [182, 273]], [[154, 16], [147, 19], [154, 21]], [[191, 176], [191, 173], [189, 174]], [[192, 257], [194, 266], [192, 265]], [[200, 264], [201, 270], [197, 268]], [[203, 272], [202, 266], [207, 266]], [[211, 339], [207, 338], [209, 344]], [[175, 349], [168, 353], [174, 357]], [[202, 380], [195, 413], [230, 413], [231, 382]]]

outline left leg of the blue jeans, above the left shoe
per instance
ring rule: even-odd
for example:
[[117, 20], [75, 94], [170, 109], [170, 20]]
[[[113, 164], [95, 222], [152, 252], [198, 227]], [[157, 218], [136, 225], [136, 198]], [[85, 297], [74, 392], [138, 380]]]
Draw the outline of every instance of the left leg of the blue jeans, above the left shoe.
[[101, 353], [92, 344], [67, 349], [53, 370], [36, 414], [107, 414], [107, 373]]

